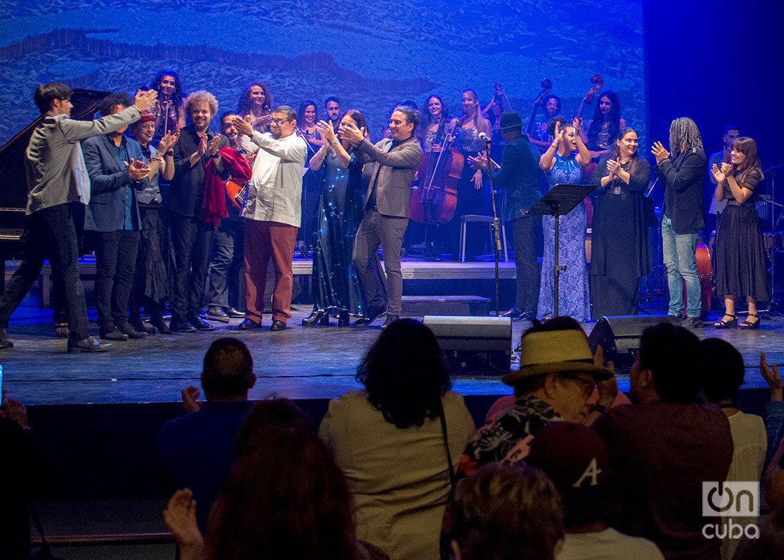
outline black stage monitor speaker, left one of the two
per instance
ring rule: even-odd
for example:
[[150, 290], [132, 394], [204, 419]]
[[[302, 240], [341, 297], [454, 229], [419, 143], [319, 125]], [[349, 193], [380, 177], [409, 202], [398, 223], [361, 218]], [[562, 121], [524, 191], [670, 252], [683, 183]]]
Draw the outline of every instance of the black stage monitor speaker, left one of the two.
[[503, 375], [510, 370], [510, 317], [428, 315], [424, 323], [436, 335], [452, 374]]

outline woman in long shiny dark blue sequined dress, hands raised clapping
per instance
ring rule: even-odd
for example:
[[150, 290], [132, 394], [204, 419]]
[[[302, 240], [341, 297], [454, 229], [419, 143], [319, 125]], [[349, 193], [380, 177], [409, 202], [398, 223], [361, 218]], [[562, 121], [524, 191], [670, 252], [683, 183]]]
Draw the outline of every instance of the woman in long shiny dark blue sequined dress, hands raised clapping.
[[[351, 123], [365, 136], [368, 125], [358, 110], [349, 110], [340, 120]], [[348, 327], [349, 314], [361, 315], [363, 305], [356, 269], [351, 258], [354, 237], [362, 219], [362, 164], [351, 144], [339, 140], [332, 125], [318, 122], [324, 144], [310, 158], [310, 169], [324, 168], [318, 222], [313, 247], [313, 284], [316, 303], [303, 325], [328, 325], [329, 315], [338, 316], [338, 326]], [[381, 263], [376, 259], [380, 269]]]

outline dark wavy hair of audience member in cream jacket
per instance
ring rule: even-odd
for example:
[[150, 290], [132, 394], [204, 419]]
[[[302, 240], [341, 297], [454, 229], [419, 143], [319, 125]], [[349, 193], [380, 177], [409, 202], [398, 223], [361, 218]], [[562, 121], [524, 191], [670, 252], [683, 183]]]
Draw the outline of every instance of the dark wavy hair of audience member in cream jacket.
[[414, 319], [397, 320], [381, 333], [362, 359], [357, 380], [370, 403], [397, 428], [438, 417], [441, 397], [452, 388], [433, 331]]

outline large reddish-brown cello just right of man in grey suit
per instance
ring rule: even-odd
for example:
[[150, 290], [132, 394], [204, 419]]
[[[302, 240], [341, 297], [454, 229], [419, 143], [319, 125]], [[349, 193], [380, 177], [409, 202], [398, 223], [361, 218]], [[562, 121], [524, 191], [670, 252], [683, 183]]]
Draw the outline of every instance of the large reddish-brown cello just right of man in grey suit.
[[451, 222], [457, 207], [457, 183], [465, 158], [452, 147], [456, 121], [445, 135], [440, 152], [427, 152], [419, 162], [419, 186], [412, 187], [409, 213], [414, 222], [442, 224]]

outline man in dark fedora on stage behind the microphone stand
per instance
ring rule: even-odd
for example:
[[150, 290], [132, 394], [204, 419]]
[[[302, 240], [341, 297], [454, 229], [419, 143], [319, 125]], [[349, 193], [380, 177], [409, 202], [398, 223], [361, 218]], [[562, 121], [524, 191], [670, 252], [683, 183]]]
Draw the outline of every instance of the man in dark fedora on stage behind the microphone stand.
[[[501, 115], [503, 149], [501, 167], [494, 164], [493, 184], [506, 192], [503, 219], [514, 231], [514, 265], [517, 268], [517, 296], [514, 307], [504, 316], [532, 320], [539, 302], [539, 265], [536, 262], [536, 230], [542, 227], [542, 217], [525, 214], [539, 200], [539, 150], [523, 134], [523, 121], [517, 111]], [[487, 175], [485, 157], [469, 157], [474, 168]], [[497, 169], [497, 171], [495, 170]]]

